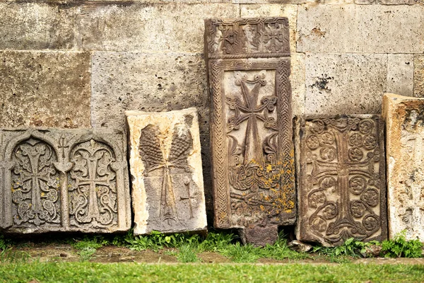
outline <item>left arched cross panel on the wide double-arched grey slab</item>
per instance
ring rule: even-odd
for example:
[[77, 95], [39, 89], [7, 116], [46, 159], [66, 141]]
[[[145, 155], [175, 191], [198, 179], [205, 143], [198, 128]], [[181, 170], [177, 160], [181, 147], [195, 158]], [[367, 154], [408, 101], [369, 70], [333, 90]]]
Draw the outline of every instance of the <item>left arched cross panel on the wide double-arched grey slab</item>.
[[58, 224], [60, 201], [57, 155], [47, 142], [31, 137], [13, 149], [12, 200], [16, 225]]

